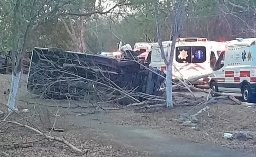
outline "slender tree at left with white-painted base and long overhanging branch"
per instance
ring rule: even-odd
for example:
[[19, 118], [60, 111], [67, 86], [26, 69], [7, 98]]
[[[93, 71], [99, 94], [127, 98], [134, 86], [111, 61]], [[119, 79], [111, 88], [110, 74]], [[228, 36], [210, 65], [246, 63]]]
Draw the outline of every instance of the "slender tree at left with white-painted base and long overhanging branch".
[[3, 25], [10, 25], [9, 36], [11, 37], [9, 37], [9, 43], [12, 43], [10, 44], [12, 45], [12, 80], [7, 104], [11, 109], [15, 107], [18, 83], [22, 71], [22, 56], [28, 48], [31, 34], [40, 25], [52, 19], [59, 19], [59, 16], [90, 17], [92, 14], [110, 13], [118, 6], [127, 5], [126, 0], [124, 0], [118, 2], [107, 11], [95, 9], [88, 12], [71, 12], [70, 6], [79, 2], [79, 0], [0, 0], [0, 13], [3, 14], [1, 17], [9, 20], [9, 24], [5, 20], [6, 24]]

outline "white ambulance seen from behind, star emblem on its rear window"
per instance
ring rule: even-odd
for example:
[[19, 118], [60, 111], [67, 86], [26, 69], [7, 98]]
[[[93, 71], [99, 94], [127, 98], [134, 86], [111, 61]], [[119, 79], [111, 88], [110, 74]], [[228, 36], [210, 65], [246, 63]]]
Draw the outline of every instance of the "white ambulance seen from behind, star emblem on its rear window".
[[[170, 53], [171, 43], [172, 41], [162, 42], [166, 54]], [[212, 73], [212, 68], [218, 59], [218, 52], [224, 48], [224, 42], [208, 41], [206, 38], [178, 38], [174, 48], [172, 80], [186, 80], [194, 76]], [[150, 66], [166, 71], [158, 43], [153, 45], [150, 56]], [[210, 78], [206, 77], [194, 81], [192, 84], [208, 86], [209, 80]]]

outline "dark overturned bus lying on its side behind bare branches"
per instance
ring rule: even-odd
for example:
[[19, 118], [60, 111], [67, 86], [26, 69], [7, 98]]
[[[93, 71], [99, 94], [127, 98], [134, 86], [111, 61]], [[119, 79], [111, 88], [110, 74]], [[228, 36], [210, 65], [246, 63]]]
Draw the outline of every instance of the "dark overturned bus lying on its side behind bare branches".
[[138, 62], [36, 47], [32, 51], [27, 90], [54, 99], [86, 99], [90, 95], [109, 98], [122, 94], [122, 90], [153, 94], [165, 74]]

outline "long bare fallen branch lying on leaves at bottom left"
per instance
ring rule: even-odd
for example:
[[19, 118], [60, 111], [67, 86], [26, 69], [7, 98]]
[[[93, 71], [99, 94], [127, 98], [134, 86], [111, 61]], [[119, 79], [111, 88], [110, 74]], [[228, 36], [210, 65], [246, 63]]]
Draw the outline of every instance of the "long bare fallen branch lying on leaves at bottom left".
[[32, 130], [33, 132], [36, 132], [36, 133], [38, 133], [38, 134], [44, 136], [46, 139], [58, 141], [58, 142], [60, 142], [60, 143], [63, 143], [63, 144], [65, 144], [65, 145], [69, 146], [72, 150], [74, 150], [74, 151], [76, 151], [76, 152], [83, 153], [80, 149], [78, 149], [78, 148], [75, 147], [74, 145], [70, 144], [68, 141], [63, 140], [63, 139], [58, 138], [58, 137], [53, 137], [53, 136], [45, 135], [45, 134], [42, 133], [41, 131], [39, 131], [39, 130], [37, 130], [37, 129], [35, 129], [35, 128], [32, 128], [32, 127], [30, 127], [30, 126], [27, 126], [26, 124], [21, 124], [21, 123], [14, 122], [14, 121], [6, 121], [6, 120], [2, 120], [2, 121], [6, 122], [6, 123], [16, 124], [16, 125], [21, 126], [21, 127], [25, 127], [25, 128], [27, 128], [27, 129]]

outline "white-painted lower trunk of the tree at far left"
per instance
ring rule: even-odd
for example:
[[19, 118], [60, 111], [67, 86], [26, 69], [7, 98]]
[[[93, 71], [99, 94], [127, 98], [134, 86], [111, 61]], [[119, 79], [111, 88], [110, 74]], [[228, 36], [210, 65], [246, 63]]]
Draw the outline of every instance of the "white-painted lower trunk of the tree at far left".
[[[11, 89], [10, 89], [10, 94], [7, 102], [7, 105], [11, 109], [14, 109], [15, 107], [15, 99], [18, 92], [18, 83], [20, 82], [20, 76], [21, 76], [21, 71], [16, 73], [16, 75], [12, 73]], [[8, 109], [7, 111], [10, 112], [11, 109]]]

